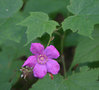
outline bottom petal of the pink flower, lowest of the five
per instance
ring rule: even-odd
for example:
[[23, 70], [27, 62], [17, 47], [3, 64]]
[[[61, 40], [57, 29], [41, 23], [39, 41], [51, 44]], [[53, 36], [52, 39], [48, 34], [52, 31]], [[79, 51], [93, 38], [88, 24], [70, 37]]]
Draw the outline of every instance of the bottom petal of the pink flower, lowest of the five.
[[33, 73], [34, 77], [43, 78], [47, 74], [46, 65], [36, 64]]

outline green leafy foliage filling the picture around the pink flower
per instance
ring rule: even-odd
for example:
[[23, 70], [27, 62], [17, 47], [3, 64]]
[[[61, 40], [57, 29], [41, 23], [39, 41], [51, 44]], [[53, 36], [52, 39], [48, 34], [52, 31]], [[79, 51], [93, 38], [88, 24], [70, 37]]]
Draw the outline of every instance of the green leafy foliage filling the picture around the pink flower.
[[[57, 75], [21, 78], [34, 42], [58, 49]], [[99, 0], [0, 0], [0, 90], [99, 90]]]

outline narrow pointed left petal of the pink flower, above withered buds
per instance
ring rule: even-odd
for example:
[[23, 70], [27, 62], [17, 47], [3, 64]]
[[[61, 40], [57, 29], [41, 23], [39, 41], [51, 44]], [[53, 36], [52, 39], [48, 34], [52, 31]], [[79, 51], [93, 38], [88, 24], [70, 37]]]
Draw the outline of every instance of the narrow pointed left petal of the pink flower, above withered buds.
[[34, 67], [36, 63], [37, 63], [36, 57], [29, 56], [28, 59], [22, 65], [22, 67], [24, 67], [24, 66]]

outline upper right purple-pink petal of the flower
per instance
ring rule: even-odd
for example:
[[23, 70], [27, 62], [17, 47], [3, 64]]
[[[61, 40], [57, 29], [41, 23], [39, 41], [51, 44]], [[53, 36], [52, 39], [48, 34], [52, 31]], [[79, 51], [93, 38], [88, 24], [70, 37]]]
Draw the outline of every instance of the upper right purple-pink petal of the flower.
[[53, 45], [48, 46], [44, 50], [44, 53], [46, 54], [47, 57], [52, 59], [57, 59], [60, 56], [58, 50]]

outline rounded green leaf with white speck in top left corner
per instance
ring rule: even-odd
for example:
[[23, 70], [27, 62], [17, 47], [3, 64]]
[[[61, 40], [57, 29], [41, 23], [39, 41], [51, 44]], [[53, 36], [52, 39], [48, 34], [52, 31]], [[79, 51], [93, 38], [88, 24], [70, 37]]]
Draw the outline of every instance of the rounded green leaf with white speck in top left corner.
[[19, 11], [22, 0], [0, 0], [0, 18], [8, 18]]

